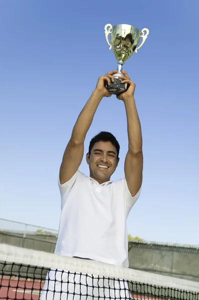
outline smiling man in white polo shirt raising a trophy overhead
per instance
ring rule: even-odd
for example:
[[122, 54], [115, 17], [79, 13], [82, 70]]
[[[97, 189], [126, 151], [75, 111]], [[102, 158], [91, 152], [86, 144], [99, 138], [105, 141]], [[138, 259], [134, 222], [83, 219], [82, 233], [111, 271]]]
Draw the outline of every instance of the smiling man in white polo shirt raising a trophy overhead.
[[[78, 116], [66, 146], [59, 173], [62, 211], [55, 253], [128, 267], [126, 219], [140, 195], [143, 153], [141, 126], [134, 99], [135, 84], [125, 71], [123, 71], [125, 76], [119, 78], [129, 87], [126, 92], [117, 96], [124, 102], [127, 115], [129, 147], [124, 166], [125, 178], [116, 182], [110, 181], [119, 162], [120, 146], [109, 132], [100, 132], [90, 142], [86, 154], [90, 176], [78, 170], [83, 158], [86, 133], [102, 98], [111, 96], [106, 84], [114, 81], [113, 74], [116, 72], [111, 71], [99, 77], [95, 90]], [[66, 272], [64, 280], [70, 281], [70, 286], [64, 287], [63, 274], [49, 272], [50, 282], [56, 281], [56, 284], [53, 283], [53, 289], [56, 290], [57, 297], [53, 294], [53, 299], [61, 299], [58, 292], [60, 290], [62, 295], [69, 293], [68, 299], [70, 294], [71, 299], [73, 293], [83, 294], [82, 290], [75, 290], [74, 279], [69, 280], [68, 277]], [[81, 282], [81, 276], [75, 279], [75, 283], [80, 286], [82, 284], [82, 288], [85, 287]], [[113, 282], [103, 281], [103, 284], [111, 287]], [[123, 284], [123, 288], [128, 290], [128, 286]], [[87, 285], [92, 287], [88, 282]], [[50, 289], [53, 290], [52, 284]], [[86, 291], [89, 296], [93, 295], [93, 291], [89, 291], [88, 287]], [[100, 292], [97, 291], [96, 298], [105, 297]], [[115, 294], [109, 295], [109, 298], [115, 297]], [[44, 298], [52, 297], [46, 297], [45, 294], [41, 299]]]

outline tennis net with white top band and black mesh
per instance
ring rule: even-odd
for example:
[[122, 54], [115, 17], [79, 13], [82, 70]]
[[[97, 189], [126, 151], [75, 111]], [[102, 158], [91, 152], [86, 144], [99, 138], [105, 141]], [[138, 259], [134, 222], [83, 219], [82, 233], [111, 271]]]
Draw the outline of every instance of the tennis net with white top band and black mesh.
[[0, 244], [0, 299], [199, 300], [199, 282]]

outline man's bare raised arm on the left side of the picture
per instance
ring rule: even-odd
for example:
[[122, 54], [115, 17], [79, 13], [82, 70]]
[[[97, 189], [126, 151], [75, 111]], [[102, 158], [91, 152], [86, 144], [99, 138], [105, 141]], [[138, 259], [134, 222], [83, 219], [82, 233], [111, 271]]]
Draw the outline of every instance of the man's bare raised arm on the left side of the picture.
[[77, 118], [60, 166], [59, 179], [61, 184], [72, 178], [82, 161], [86, 133], [101, 99], [104, 96], [111, 96], [105, 85], [106, 83], [110, 84], [111, 80], [113, 81], [112, 74], [114, 72], [116, 71], [108, 72], [105, 76], [99, 77], [95, 90]]

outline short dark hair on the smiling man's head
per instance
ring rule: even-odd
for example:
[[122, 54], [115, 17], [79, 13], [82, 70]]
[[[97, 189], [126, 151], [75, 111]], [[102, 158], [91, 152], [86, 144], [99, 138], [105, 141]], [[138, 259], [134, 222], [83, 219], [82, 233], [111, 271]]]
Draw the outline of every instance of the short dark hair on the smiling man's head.
[[91, 139], [90, 144], [89, 144], [89, 149], [88, 149], [89, 155], [91, 154], [92, 147], [98, 141], [110, 141], [116, 147], [117, 158], [118, 158], [119, 152], [120, 152], [119, 142], [117, 141], [117, 139], [115, 138], [115, 136], [112, 133], [107, 132], [107, 131], [101, 131], [100, 133], [98, 133]]

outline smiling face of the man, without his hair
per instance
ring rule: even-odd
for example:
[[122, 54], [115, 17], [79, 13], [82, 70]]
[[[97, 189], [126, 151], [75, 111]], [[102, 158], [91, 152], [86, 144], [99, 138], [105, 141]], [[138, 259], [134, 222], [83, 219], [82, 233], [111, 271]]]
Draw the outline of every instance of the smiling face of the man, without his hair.
[[86, 154], [86, 161], [89, 164], [90, 177], [103, 183], [110, 180], [119, 158], [116, 147], [110, 141], [98, 141], [93, 145], [90, 156], [89, 153]]

